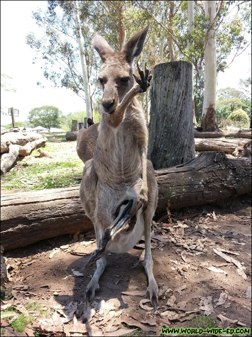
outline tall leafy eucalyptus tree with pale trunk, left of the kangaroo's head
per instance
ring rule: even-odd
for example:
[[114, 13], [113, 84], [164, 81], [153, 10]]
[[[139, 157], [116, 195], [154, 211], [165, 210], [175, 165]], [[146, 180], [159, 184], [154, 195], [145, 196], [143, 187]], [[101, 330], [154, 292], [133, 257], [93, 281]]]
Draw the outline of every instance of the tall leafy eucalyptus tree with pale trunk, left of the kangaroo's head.
[[[36, 51], [34, 62], [39, 59], [44, 61], [44, 77], [55, 87], [69, 88], [83, 98], [86, 101], [87, 115], [92, 118], [90, 102], [94, 89], [93, 92], [90, 89], [96, 83], [91, 81], [91, 74], [97, 72], [98, 64], [90, 45], [92, 27], [87, 19], [92, 12], [93, 2], [80, 2], [82, 20], [79, 18], [78, 4], [75, 6], [75, 3], [48, 1], [45, 12], [33, 12], [33, 18], [41, 27], [42, 37], [30, 32], [26, 36], [26, 42]], [[80, 66], [80, 57], [83, 67]]]

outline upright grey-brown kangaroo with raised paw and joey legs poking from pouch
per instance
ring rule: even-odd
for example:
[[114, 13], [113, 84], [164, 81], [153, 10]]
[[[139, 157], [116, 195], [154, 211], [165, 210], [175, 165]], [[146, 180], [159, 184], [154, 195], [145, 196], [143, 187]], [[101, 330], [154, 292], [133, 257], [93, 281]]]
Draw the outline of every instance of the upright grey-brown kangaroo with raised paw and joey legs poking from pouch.
[[[148, 130], [136, 95], [146, 91], [151, 75], [132, 63], [143, 49], [149, 25], [135, 34], [116, 53], [106, 40], [95, 34], [92, 44], [102, 65], [98, 80], [103, 90], [102, 115], [92, 159], [86, 161], [80, 198], [92, 220], [96, 235], [96, 271], [86, 289], [91, 302], [106, 267], [104, 252], [130, 251], [145, 235], [144, 267], [147, 292], [154, 309], [158, 286], [153, 275], [151, 221], [157, 207], [158, 188], [152, 163], [147, 160]], [[137, 82], [137, 83], [136, 83]], [[85, 267], [84, 267], [85, 268]]]

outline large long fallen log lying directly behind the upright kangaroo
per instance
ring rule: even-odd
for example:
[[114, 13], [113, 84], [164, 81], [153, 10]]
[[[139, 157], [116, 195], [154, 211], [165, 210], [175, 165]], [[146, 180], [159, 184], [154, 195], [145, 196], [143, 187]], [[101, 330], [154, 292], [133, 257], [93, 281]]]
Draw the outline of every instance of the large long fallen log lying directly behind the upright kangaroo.
[[[203, 152], [175, 167], [155, 171], [156, 213], [202, 204], [225, 204], [251, 191], [251, 158], [228, 159], [223, 152]], [[1, 242], [5, 250], [49, 237], [93, 228], [79, 198], [79, 186], [1, 196]]]

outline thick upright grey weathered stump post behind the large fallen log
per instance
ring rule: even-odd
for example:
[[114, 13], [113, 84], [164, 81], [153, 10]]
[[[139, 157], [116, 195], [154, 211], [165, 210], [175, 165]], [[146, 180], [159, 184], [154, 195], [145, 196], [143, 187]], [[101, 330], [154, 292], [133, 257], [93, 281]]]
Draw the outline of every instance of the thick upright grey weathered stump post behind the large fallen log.
[[192, 64], [178, 61], [155, 66], [150, 95], [148, 159], [154, 168], [195, 158]]

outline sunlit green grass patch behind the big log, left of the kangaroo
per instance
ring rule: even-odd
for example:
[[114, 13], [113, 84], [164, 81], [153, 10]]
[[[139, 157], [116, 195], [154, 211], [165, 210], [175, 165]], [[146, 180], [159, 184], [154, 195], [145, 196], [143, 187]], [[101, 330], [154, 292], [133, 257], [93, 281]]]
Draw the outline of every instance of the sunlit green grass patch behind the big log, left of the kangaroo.
[[77, 155], [76, 141], [66, 141], [65, 134], [45, 135], [48, 141], [41, 149], [55, 153], [55, 157], [36, 158], [39, 152], [34, 150], [1, 176], [2, 190], [29, 191], [80, 184], [84, 164]]

